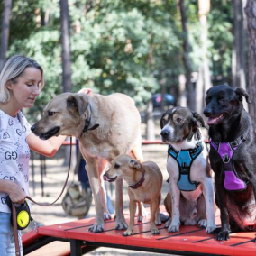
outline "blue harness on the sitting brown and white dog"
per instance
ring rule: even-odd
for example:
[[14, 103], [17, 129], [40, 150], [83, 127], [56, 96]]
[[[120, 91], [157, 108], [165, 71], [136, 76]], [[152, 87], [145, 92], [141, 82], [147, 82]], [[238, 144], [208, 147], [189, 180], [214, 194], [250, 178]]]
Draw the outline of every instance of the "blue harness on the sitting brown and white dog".
[[190, 168], [192, 162], [203, 151], [202, 142], [197, 142], [194, 149], [176, 151], [170, 144], [168, 154], [178, 163], [179, 178], [178, 189], [181, 191], [194, 191], [199, 186], [200, 182], [190, 180]]

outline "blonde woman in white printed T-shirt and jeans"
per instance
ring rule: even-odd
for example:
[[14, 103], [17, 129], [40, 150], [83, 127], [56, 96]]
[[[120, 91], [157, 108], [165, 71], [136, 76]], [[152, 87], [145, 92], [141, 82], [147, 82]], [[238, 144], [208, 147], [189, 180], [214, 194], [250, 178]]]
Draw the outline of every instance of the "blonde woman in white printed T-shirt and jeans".
[[[10, 223], [9, 195], [21, 204], [29, 195], [30, 150], [51, 157], [59, 150], [65, 136], [42, 141], [31, 133], [23, 115], [40, 95], [43, 69], [33, 59], [14, 55], [0, 73], [0, 255], [15, 255], [14, 230]], [[20, 236], [20, 248], [22, 242]]]

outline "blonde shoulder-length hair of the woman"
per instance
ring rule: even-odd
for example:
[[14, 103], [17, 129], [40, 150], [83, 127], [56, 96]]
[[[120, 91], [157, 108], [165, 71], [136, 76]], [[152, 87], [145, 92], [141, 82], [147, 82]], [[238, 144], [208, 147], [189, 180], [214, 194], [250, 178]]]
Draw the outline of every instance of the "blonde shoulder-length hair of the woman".
[[8, 81], [15, 83], [16, 78], [19, 78], [26, 68], [36, 68], [41, 70], [40, 89], [44, 87], [43, 69], [41, 66], [31, 58], [23, 55], [14, 55], [6, 61], [4, 68], [0, 73], [0, 102], [6, 103], [10, 100], [10, 92], [6, 87], [6, 83]]

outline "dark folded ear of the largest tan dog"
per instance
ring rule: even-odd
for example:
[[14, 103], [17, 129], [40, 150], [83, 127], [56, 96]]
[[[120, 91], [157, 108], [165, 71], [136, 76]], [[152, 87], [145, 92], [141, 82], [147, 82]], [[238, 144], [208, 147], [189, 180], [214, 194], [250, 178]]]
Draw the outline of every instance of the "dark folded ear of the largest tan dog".
[[88, 106], [88, 101], [85, 96], [71, 95], [67, 99], [67, 108], [71, 112], [78, 112], [80, 115], [84, 114]]

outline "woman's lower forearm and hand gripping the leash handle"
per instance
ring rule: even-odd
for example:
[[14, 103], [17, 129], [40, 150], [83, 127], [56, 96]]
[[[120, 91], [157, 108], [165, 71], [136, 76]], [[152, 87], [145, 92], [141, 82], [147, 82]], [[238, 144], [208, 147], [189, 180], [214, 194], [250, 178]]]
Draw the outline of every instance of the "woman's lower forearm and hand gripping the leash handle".
[[0, 191], [8, 194], [11, 201], [16, 204], [23, 204], [25, 201], [25, 192], [14, 181], [0, 179]]

